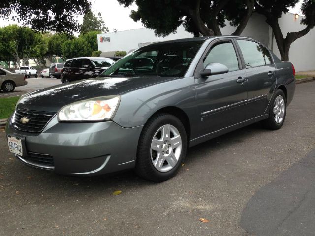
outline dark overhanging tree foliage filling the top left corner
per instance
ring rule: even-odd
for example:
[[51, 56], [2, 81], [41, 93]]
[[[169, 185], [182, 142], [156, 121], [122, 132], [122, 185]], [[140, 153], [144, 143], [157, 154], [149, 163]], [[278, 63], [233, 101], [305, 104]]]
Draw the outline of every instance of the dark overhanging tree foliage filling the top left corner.
[[72, 34], [79, 29], [76, 17], [90, 8], [90, 0], [4, 0], [0, 3], [0, 17], [40, 31]]

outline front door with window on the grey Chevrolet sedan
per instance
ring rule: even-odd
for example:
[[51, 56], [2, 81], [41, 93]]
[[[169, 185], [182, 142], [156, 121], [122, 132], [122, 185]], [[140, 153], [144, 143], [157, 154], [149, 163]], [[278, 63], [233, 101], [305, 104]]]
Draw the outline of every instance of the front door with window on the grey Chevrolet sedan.
[[203, 58], [203, 67], [221, 63], [228, 73], [195, 79], [201, 119], [201, 134], [209, 134], [245, 120], [247, 79], [241, 60], [231, 40], [221, 40], [210, 47]]

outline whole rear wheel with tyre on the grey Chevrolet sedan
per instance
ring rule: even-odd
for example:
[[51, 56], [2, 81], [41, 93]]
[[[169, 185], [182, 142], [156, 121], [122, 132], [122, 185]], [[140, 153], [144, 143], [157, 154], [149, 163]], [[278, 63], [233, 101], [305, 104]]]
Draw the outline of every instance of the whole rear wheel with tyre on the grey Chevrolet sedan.
[[263, 120], [263, 124], [266, 128], [277, 130], [284, 124], [286, 116], [286, 100], [284, 92], [278, 89], [270, 103], [269, 118]]

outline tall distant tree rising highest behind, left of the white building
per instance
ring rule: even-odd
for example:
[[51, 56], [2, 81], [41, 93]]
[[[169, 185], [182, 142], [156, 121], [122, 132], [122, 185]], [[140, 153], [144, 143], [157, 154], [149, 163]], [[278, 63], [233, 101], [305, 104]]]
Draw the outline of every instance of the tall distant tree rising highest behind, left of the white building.
[[108, 32], [108, 28], [105, 27], [100, 13], [98, 13], [98, 17], [96, 17], [95, 14], [89, 10], [83, 17], [83, 23], [80, 27], [80, 34], [82, 35], [91, 31], [105, 33]]

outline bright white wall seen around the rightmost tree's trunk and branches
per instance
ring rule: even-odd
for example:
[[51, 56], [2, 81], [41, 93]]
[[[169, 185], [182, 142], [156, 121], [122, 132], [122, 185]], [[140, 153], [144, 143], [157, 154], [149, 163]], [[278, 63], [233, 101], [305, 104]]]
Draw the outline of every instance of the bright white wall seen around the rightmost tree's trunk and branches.
[[[283, 14], [279, 19], [279, 25], [284, 37], [288, 32], [296, 32], [304, 29], [306, 26], [301, 25], [300, 16], [298, 19], [294, 18], [294, 14]], [[280, 52], [277, 47], [276, 39], [273, 39], [273, 52], [280, 58]], [[315, 70], [315, 29], [295, 40], [290, 47], [289, 60], [293, 63], [296, 71]]]

